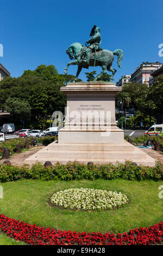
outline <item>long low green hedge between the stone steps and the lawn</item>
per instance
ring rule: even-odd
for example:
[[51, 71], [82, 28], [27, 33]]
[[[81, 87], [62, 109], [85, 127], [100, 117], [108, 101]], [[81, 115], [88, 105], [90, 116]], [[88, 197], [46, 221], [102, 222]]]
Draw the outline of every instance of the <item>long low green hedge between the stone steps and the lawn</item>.
[[163, 162], [156, 161], [154, 167], [135, 166], [132, 162], [117, 162], [117, 164], [87, 164], [68, 162], [56, 163], [51, 167], [43, 167], [37, 162], [33, 166], [12, 166], [1, 164], [0, 181], [14, 181], [20, 179], [41, 180], [96, 180], [96, 179], [125, 179], [125, 180], [163, 180]]

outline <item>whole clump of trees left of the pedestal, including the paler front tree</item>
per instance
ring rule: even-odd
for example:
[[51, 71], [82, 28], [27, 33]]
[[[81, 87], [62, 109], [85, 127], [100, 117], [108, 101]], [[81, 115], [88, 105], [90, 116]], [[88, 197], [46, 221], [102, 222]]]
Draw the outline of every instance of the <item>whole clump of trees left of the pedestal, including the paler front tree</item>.
[[[53, 65], [40, 65], [24, 71], [21, 77], [6, 77], [0, 82], [0, 108], [11, 113], [11, 123], [40, 127], [50, 112], [64, 113], [66, 96], [60, 92], [65, 79]], [[51, 107], [50, 107], [51, 106]]]

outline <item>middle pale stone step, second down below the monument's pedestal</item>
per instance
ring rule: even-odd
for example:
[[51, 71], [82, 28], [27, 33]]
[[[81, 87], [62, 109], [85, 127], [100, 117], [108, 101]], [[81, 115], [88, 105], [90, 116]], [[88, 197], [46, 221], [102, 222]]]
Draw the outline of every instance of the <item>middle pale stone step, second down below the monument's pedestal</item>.
[[135, 151], [87, 151], [87, 150], [49, 150], [44, 149], [37, 152], [37, 157], [42, 158], [46, 154], [47, 158], [68, 158], [71, 159], [144, 159], [144, 154]]

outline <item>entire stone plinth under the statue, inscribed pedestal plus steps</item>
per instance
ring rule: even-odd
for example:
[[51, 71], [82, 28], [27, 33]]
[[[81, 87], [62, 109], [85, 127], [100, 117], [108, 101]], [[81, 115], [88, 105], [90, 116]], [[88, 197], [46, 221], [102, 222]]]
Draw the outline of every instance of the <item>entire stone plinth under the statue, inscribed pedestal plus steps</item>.
[[61, 87], [61, 92], [67, 97], [67, 113], [58, 141], [28, 157], [25, 163], [116, 163], [130, 160], [154, 165], [152, 157], [124, 141], [123, 130], [116, 125], [115, 96], [121, 92], [120, 87], [107, 82], [78, 82]]

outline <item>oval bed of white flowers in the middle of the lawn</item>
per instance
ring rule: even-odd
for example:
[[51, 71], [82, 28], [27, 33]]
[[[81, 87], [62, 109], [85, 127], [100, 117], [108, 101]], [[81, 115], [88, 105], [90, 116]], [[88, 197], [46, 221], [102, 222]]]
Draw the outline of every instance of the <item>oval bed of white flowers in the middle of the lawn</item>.
[[94, 188], [68, 188], [54, 193], [51, 202], [65, 209], [102, 210], [120, 207], [128, 202], [128, 198], [121, 192]]

